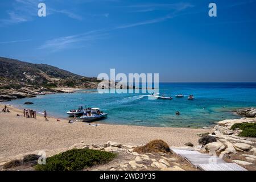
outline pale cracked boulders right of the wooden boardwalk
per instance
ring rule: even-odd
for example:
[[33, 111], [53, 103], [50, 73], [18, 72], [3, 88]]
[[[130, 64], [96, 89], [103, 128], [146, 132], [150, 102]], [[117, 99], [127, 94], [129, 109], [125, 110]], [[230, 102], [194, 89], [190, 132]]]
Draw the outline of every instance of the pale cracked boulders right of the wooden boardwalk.
[[[251, 110], [251, 109], [250, 109]], [[246, 112], [249, 109], [246, 110]], [[203, 147], [203, 151], [210, 155], [218, 155], [220, 158], [233, 159], [232, 162], [243, 167], [254, 166], [256, 169], [256, 138], [239, 137], [242, 131], [232, 130], [235, 123], [254, 123], [254, 118], [226, 119], [214, 126], [214, 135], [217, 142], [208, 143]]]

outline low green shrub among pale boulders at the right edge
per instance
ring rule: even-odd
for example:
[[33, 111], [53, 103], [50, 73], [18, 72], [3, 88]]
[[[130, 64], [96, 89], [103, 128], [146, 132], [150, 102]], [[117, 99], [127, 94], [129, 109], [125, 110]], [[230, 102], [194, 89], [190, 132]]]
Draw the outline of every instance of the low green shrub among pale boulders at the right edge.
[[240, 129], [240, 137], [256, 137], [256, 123], [235, 123], [232, 130]]

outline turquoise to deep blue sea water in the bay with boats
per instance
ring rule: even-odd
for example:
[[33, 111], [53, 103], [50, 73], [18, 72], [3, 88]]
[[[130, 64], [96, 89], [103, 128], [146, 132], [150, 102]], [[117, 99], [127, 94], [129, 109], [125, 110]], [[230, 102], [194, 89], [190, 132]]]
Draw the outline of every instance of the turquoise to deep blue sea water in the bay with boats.
[[[80, 105], [100, 107], [108, 118], [102, 123], [156, 127], [203, 127], [223, 119], [240, 118], [233, 109], [256, 106], [256, 83], [161, 83], [160, 93], [165, 96], [193, 94], [173, 100], [148, 100], [145, 94], [99, 94], [80, 90], [70, 94], [49, 94], [24, 98], [8, 104], [29, 107], [36, 111], [47, 110], [49, 115], [66, 118], [65, 112]], [[26, 106], [31, 101], [34, 105]], [[180, 115], [175, 114], [180, 111]]]

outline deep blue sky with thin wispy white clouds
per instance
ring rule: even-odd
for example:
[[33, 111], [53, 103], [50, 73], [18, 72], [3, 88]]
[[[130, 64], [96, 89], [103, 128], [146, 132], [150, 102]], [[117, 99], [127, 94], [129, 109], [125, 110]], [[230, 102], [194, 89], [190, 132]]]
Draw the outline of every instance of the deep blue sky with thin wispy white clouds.
[[1, 0], [0, 56], [84, 76], [115, 68], [162, 82], [255, 82], [255, 9], [256, 0]]

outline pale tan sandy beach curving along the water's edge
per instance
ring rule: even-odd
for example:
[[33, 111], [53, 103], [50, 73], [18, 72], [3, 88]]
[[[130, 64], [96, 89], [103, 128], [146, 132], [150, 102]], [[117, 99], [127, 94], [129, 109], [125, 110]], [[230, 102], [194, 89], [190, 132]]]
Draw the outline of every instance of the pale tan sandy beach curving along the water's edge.
[[[70, 147], [81, 140], [86, 144], [102, 144], [109, 140], [119, 143], [146, 144], [153, 139], [163, 139], [170, 146], [183, 146], [186, 142], [197, 145], [197, 133], [213, 130], [144, 127], [125, 125], [90, 126], [88, 123], [48, 118], [42, 114], [37, 119], [24, 118], [23, 110], [9, 106], [11, 113], [3, 113], [0, 105], [0, 160], [36, 150], [55, 150]], [[28, 106], [29, 107], [29, 106]], [[16, 117], [19, 114], [20, 117]], [[160, 122], [160, 121], [159, 121]], [[97, 122], [96, 122], [97, 123]]]

